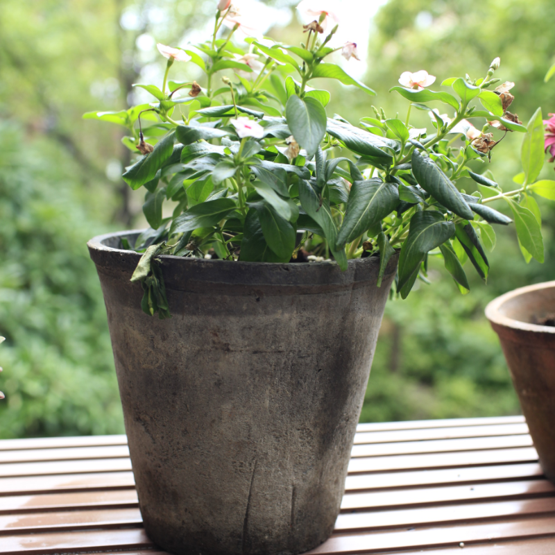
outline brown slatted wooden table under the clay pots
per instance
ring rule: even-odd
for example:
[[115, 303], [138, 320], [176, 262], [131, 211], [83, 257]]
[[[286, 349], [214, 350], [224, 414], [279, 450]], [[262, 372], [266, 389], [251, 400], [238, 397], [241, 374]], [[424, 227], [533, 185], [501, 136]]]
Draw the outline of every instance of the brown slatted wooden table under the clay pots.
[[[361, 424], [334, 535], [311, 554], [555, 554], [555, 486], [520, 416]], [[159, 555], [125, 436], [0, 441], [0, 554]]]

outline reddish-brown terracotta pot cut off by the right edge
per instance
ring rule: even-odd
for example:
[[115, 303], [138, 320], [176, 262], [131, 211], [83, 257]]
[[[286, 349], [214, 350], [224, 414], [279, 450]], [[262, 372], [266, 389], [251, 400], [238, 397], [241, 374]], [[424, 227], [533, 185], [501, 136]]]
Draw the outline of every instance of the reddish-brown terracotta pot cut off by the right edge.
[[555, 481], [555, 282], [515, 289], [491, 301], [486, 316], [499, 335], [522, 412], [545, 475]]

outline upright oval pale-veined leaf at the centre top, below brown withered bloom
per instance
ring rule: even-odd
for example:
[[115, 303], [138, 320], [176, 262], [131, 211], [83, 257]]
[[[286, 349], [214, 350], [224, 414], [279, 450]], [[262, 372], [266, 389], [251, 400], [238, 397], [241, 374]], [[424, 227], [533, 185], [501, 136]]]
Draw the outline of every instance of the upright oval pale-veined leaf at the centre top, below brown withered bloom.
[[287, 125], [296, 142], [305, 148], [307, 154], [314, 156], [326, 131], [325, 108], [316, 99], [300, 99], [291, 96], [285, 107]]

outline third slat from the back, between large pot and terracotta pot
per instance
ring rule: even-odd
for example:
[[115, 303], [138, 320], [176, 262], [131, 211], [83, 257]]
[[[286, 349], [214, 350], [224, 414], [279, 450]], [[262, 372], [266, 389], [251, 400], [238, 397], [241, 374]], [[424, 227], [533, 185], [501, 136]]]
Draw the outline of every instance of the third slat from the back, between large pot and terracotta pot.
[[455, 451], [480, 451], [486, 449], [508, 449], [532, 447], [531, 437], [500, 436], [490, 438], [439, 439], [432, 441], [403, 441], [402, 443], [370, 443], [354, 445], [351, 456], [386, 456], [417, 453], [441, 453]]

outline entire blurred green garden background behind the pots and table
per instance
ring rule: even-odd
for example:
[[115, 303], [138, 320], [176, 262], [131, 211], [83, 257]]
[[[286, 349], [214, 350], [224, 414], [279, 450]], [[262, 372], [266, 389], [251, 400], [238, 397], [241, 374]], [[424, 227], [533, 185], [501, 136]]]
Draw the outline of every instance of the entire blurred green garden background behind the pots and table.
[[[245, 2], [255, 9], [255, 0]], [[299, 42], [296, 2], [260, 4], [267, 35]], [[407, 103], [388, 93], [402, 71], [426, 69], [437, 76], [436, 88], [447, 77], [484, 76], [495, 56], [502, 60], [496, 76], [516, 83], [511, 110], [522, 121], [539, 105], [545, 116], [555, 112], [555, 82], [543, 83], [555, 54], [552, 0], [348, 4], [345, 28], [363, 58], [348, 69], [378, 96], [332, 84], [329, 115], [356, 123], [373, 115], [372, 103], [388, 117], [404, 115]], [[2, 438], [123, 432], [105, 309], [85, 243], [95, 234], [143, 227], [144, 193], [119, 177], [130, 161], [121, 131], [81, 114], [141, 101], [131, 85], [162, 76], [165, 60], [155, 43], [203, 40], [215, 6], [216, 0], [2, 1]], [[195, 78], [189, 66], [173, 75]], [[429, 126], [427, 114], [417, 116]], [[489, 165], [504, 189], [520, 171], [521, 141], [508, 135]], [[552, 168], [546, 164], [543, 176], [552, 178]], [[548, 200], [540, 206], [545, 264], [525, 264], [513, 229], [497, 228], [487, 286], [468, 268], [472, 292], [463, 297], [434, 266], [432, 286], [420, 284], [408, 300], [388, 302], [361, 420], [518, 413], [484, 307], [510, 289], [555, 279], [555, 207]]]

